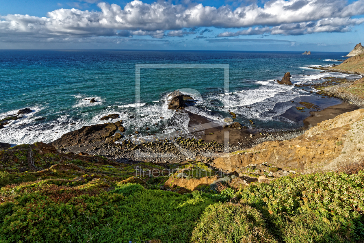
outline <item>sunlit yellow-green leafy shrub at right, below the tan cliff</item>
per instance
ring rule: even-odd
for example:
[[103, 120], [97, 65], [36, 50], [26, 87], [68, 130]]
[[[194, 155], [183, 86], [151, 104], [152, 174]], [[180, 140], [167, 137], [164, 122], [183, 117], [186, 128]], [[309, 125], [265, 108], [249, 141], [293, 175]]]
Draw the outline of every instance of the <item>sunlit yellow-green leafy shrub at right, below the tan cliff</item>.
[[241, 191], [242, 203], [266, 216], [313, 213], [321, 220], [340, 222], [355, 238], [364, 236], [364, 172], [285, 176], [268, 183], [254, 183]]

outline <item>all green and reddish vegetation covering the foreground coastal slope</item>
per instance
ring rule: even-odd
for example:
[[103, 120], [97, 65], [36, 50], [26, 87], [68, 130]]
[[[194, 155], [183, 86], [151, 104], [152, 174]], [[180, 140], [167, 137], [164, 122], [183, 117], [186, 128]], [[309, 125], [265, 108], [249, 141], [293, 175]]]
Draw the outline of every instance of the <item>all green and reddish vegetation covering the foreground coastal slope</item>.
[[[199, 185], [197, 191], [166, 191], [168, 177], [119, 175], [134, 172], [136, 165], [59, 154], [41, 146], [43, 154], [34, 150], [35, 161], [48, 169], [40, 172], [19, 172], [27, 167], [24, 150], [0, 151], [0, 243], [364, 239], [364, 160], [344, 166], [340, 173], [297, 173], [249, 185], [242, 184], [241, 177], [226, 176]], [[186, 180], [214, 172], [201, 161], [166, 166], [174, 169], [173, 176], [187, 169]], [[271, 166], [269, 172], [278, 170]]]

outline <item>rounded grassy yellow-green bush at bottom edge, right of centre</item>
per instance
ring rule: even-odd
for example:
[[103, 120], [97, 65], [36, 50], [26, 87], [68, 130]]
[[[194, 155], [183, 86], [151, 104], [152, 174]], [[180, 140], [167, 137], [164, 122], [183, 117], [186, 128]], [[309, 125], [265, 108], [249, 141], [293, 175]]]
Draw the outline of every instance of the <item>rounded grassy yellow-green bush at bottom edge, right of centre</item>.
[[207, 207], [194, 229], [193, 243], [277, 242], [257, 209], [241, 204]]

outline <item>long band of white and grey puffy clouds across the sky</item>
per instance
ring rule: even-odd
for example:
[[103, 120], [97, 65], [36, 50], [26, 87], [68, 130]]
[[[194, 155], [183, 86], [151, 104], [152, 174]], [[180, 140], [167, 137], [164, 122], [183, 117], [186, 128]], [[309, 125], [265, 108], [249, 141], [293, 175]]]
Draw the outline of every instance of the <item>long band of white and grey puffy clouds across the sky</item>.
[[[96, 2], [96, 0], [87, 0]], [[283, 34], [301, 35], [314, 32], [345, 32], [363, 23], [352, 16], [364, 14], [364, 0], [270, 0], [263, 7], [256, 3], [230, 9], [202, 4], [151, 4], [134, 0], [124, 8], [117, 4], [98, 3], [100, 11], [56, 9], [47, 17], [29, 15], [0, 16], [1, 36], [35, 38], [85, 38], [92, 36], [149, 35], [154, 38], [210, 32], [208, 27], [248, 28], [223, 32], [219, 37], [239, 35]], [[258, 27], [257, 27], [258, 26]], [[190, 30], [187, 30], [190, 29]], [[166, 32], [168, 32], [166, 34]]]

